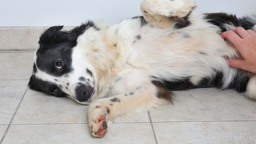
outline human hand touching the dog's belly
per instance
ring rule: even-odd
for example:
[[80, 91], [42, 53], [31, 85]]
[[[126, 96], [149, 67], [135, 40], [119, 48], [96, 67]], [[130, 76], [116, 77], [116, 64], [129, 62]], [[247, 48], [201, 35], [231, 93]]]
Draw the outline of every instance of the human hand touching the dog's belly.
[[223, 32], [221, 36], [233, 43], [244, 58], [243, 60], [229, 59], [229, 66], [256, 73], [256, 33], [251, 29], [237, 27]]

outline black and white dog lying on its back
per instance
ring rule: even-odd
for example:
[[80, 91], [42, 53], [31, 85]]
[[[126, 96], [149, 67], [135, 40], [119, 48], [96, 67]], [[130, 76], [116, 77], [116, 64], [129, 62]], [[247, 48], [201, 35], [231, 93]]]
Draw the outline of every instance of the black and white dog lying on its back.
[[40, 37], [29, 86], [90, 104], [96, 137], [118, 116], [172, 103], [172, 90], [234, 88], [256, 99], [256, 74], [229, 68], [227, 59], [242, 57], [220, 36], [238, 26], [254, 29], [256, 16], [195, 8], [191, 0], [142, 0], [143, 16], [115, 25], [50, 27]]

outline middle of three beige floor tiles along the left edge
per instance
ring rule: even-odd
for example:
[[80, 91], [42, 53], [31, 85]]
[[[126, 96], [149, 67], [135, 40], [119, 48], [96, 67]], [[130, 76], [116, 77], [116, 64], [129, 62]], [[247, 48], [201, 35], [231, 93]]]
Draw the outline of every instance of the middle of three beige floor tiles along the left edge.
[[9, 124], [23, 94], [28, 80], [0, 80], [0, 124]]

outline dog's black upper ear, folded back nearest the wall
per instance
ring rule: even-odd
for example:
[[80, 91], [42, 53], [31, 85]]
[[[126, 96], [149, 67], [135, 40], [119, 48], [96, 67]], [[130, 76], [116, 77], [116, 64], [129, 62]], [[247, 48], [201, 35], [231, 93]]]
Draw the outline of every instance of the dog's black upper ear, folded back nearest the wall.
[[62, 34], [66, 34], [67, 31], [61, 31], [63, 29], [63, 25], [61, 26], [52, 26], [46, 29], [39, 38], [39, 44], [42, 45], [51, 45], [58, 44], [59, 38]]

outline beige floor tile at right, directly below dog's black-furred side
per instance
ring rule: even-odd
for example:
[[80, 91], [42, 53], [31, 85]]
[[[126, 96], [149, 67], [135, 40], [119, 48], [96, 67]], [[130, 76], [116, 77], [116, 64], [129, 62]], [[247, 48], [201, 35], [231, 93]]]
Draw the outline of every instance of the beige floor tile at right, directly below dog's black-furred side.
[[230, 89], [201, 88], [177, 91], [174, 105], [151, 111], [153, 122], [256, 120], [256, 101]]

